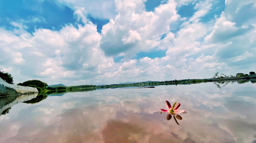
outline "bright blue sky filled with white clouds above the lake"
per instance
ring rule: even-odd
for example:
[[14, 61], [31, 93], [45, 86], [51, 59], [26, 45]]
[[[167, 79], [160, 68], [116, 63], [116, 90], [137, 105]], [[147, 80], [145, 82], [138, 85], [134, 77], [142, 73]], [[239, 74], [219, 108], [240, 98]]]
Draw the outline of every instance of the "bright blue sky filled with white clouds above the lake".
[[2, 0], [15, 83], [111, 84], [256, 71], [254, 0]]

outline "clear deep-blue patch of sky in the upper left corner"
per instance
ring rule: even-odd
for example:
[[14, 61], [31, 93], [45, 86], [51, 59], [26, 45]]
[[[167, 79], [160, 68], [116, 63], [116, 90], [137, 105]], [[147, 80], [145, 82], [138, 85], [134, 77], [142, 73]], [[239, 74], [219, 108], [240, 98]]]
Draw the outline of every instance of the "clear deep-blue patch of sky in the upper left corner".
[[1, 26], [7, 30], [15, 28], [11, 22], [26, 25], [26, 31], [33, 34], [37, 28], [60, 30], [65, 24], [75, 23], [74, 11], [67, 6], [58, 6], [53, 1], [4, 0], [0, 4]]

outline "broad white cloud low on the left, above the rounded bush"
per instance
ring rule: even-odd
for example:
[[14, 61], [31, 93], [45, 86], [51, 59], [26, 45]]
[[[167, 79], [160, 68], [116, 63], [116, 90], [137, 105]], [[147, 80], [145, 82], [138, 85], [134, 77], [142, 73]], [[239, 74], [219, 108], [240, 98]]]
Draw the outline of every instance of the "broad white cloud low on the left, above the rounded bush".
[[[113, 62], [111, 58], [104, 58], [99, 49], [101, 37], [92, 23], [79, 26], [78, 29], [66, 25], [59, 32], [39, 29], [33, 36], [24, 33], [26, 38], [3, 29], [1, 31], [7, 37], [3, 39], [5, 41], [2, 40], [2, 57], [8, 61], [3, 63], [3, 67], [7, 69], [13, 65], [13, 69], [18, 69], [12, 74], [14, 80], [19, 74], [24, 75], [15, 80], [18, 82], [28, 80], [26, 76], [48, 82], [61, 78], [63, 82], [66, 79], [93, 78], [102, 74], [99, 70], [109, 68], [109, 63]], [[19, 47], [23, 43], [29, 44]]]

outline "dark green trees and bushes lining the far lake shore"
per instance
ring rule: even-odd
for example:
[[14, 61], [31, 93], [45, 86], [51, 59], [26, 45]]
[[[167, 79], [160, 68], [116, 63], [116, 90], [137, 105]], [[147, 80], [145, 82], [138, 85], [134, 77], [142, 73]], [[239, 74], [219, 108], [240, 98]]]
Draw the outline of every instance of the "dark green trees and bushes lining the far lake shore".
[[[5, 73], [5, 76], [11, 77], [10, 74]], [[65, 85], [60, 86], [48, 86], [46, 82], [40, 80], [28, 80], [23, 83], [18, 83], [18, 85], [28, 86], [37, 88], [39, 91], [38, 96], [40, 95], [44, 99], [49, 94], [60, 94], [67, 92], [86, 92], [93, 91], [97, 89], [115, 89], [115, 88], [127, 88], [127, 87], [153, 87], [157, 85], [178, 85], [178, 84], [195, 84], [202, 82], [222, 82], [225, 80], [240, 80], [240, 79], [249, 79], [249, 77], [256, 78], [255, 72], [251, 71], [249, 74], [237, 73], [236, 75], [225, 75], [223, 73], [217, 72], [212, 78], [205, 79], [181, 79], [181, 80], [166, 80], [166, 81], [144, 81], [144, 82], [135, 82], [135, 83], [120, 83], [120, 84], [108, 84], [108, 85], [74, 85], [66, 87]], [[10, 78], [12, 79], [12, 77]], [[44, 96], [42, 96], [44, 94]], [[43, 98], [38, 98], [36, 100], [41, 100]], [[34, 102], [34, 101], [32, 101]]]

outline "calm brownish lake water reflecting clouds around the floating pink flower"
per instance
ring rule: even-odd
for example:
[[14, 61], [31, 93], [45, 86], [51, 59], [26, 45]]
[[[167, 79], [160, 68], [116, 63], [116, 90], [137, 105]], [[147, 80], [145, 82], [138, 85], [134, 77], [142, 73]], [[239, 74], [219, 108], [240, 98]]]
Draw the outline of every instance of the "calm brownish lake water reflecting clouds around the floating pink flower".
[[[221, 89], [214, 83], [105, 89], [35, 104], [18, 100], [0, 116], [0, 142], [256, 142], [251, 82]], [[165, 100], [187, 111], [177, 119], [180, 126], [160, 114]]]

